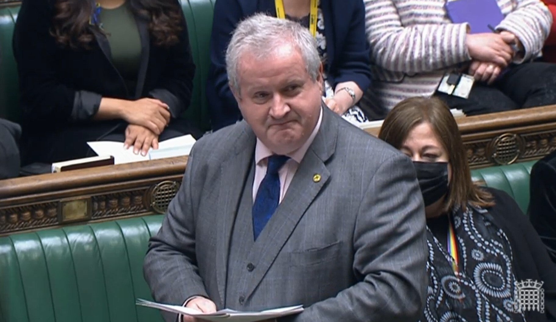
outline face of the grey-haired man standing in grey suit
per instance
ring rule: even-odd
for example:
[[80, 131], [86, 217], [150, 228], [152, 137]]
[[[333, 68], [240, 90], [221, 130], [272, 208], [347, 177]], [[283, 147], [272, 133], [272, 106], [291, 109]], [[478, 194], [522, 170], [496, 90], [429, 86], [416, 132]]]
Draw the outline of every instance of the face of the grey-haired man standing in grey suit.
[[312, 81], [299, 50], [286, 44], [258, 60], [244, 53], [238, 81], [234, 96], [257, 138], [276, 154], [299, 149], [319, 118], [322, 71]]

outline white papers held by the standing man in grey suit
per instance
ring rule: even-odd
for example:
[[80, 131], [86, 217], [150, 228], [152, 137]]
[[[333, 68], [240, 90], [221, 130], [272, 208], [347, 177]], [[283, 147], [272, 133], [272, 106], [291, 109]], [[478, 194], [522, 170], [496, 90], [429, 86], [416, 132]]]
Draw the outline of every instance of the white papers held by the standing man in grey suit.
[[235, 311], [230, 309], [224, 309], [216, 311], [215, 313], [201, 313], [200, 311], [193, 310], [190, 308], [185, 308], [180, 305], [170, 305], [161, 304], [152, 301], [147, 301], [143, 299], [137, 299], [135, 304], [141, 306], [147, 306], [147, 308], [159, 309], [163, 311], [168, 311], [177, 314], [190, 315], [195, 318], [200, 318], [211, 322], [256, 322], [266, 319], [280, 318], [280, 316], [286, 316], [290, 314], [297, 314], [303, 311], [302, 305], [287, 306], [285, 308], [277, 308], [271, 310], [264, 310], [259, 312], [245, 312], [245, 311]]

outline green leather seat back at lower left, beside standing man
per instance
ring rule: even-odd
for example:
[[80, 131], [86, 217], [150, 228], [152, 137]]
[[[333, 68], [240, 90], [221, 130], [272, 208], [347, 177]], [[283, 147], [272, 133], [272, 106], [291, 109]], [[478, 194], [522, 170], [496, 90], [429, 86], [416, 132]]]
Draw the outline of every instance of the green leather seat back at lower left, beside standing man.
[[0, 238], [0, 322], [162, 322], [143, 279], [162, 215]]

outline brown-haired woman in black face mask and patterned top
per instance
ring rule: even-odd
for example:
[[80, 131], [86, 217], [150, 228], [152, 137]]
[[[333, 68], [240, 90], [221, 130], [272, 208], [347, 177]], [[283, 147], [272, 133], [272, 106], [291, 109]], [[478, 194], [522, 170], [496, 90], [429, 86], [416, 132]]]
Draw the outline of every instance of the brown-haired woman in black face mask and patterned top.
[[[507, 193], [471, 182], [458, 125], [438, 99], [413, 97], [379, 138], [414, 161], [425, 202], [429, 287], [421, 321], [554, 321], [556, 266]], [[542, 282], [544, 310], [519, 310], [517, 283]]]

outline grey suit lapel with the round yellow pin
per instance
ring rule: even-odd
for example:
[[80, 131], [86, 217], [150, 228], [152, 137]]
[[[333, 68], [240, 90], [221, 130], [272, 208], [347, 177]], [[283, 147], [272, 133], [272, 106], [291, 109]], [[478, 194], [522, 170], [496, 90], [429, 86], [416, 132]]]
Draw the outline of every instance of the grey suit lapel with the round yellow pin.
[[251, 296], [260, 284], [291, 233], [294, 232], [297, 223], [330, 178], [325, 163], [334, 154], [338, 120], [331, 115], [332, 112], [328, 108], [324, 108], [322, 113], [319, 133], [297, 168], [280, 206], [267, 224], [272, 229], [263, 230], [252, 248], [250, 257], [257, 256], [260, 261], [247, 287], [247, 297]]

